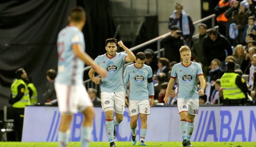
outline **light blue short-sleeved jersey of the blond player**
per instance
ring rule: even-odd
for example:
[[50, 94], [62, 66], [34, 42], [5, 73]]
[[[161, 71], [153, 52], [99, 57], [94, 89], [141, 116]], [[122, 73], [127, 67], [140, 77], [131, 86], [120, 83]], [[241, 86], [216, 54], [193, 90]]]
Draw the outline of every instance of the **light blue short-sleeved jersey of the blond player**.
[[173, 66], [171, 78], [177, 78], [178, 76], [178, 98], [198, 99], [196, 82], [199, 75], [203, 75], [203, 72], [198, 63], [191, 62], [186, 67], [181, 62]]

